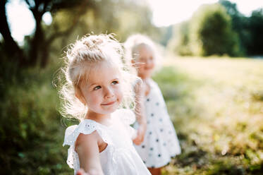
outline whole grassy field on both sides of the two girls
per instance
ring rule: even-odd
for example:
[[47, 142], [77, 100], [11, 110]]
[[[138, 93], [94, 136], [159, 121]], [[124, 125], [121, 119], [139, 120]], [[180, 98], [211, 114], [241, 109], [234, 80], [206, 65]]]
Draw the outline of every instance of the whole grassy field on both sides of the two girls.
[[[73, 174], [62, 147], [57, 64], [0, 79], [0, 174]], [[183, 153], [166, 174], [262, 174], [263, 60], [178, 58], [154, 80], [164, 94]]]

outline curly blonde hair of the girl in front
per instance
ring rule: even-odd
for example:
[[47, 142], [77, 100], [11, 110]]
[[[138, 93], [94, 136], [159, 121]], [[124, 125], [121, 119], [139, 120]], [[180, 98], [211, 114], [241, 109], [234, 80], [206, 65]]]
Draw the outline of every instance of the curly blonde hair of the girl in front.
[[75, 97], [81, 80], [88, 80], [91, 66], [101, 61], [113, 64], [120, 71], [124, 86], [123, 108], [130, 108], [134, 105], [133, 83], [137, 79], [132, 72], [133, 68], [124, 63], [123, 46], [110, 35], [87, 35], [77, 40], [75, 44], [68, 47], [66, 56], [63, 58], [65, 66], [61, 68], [63, 83], [59, 90], [62, 99], [62, 116], [82, 120], [85, 117], [88, 107], [82, 104]]

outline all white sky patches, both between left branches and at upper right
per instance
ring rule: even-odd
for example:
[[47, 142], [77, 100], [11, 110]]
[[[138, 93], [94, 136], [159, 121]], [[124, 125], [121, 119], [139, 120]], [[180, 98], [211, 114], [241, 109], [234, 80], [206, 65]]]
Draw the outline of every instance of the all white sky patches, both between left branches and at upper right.
[[[200, 5], [212, 4], [218, 0], [147, 1], [153, 11], [154, 25], [161, 27], [188, 20]], [[250, 16], [250, 13], [257, 8], [263, 8], [262, 0], [231, 0], [231, 2], [236, 3], [238, 11], [246, 16]], [[35, 29], [32, 13], [27, 9], [27, 4], [20, 0], [11, 0], [11, 3], [6, 5], [6, 11], [12, 36], [19, 44], [23, 44], [24, 36], [30, 35]], [[44, 23], [50, 24], [52, 21], [50, 13], [45, 13], [43, 20]]]

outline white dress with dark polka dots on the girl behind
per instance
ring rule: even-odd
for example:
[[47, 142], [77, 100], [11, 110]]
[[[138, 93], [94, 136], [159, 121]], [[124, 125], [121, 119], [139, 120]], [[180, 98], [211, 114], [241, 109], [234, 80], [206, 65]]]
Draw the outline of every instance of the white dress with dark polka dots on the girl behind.
[[169, 164], [171, 157], [181, 154], [181, 147], [161, 90], [153, 80], [149, 81], [149, 86], [149, 94], [145, 97], [147, 131], [145, 140], [141, 145], [135, 145], [135, 149], [146, 167], [159, 168]]

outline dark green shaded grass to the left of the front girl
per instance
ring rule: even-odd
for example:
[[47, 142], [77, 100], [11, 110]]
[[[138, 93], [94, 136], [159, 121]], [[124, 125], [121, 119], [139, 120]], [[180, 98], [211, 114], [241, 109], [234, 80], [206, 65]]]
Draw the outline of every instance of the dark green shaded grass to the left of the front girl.
[[59, 174], [66, 149], [61, 149], [64, 131], [57, 111], [58, 95], [51, 80], [56, 67], [20, 71], [0, 90], [1, 174]]

